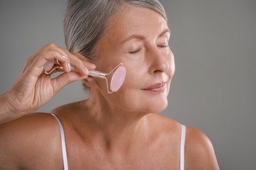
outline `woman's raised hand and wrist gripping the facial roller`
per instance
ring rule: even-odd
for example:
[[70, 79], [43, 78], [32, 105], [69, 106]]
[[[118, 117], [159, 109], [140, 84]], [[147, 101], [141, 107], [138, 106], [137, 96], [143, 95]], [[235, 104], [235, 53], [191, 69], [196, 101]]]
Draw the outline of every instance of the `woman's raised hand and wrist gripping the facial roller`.
[[[51, 79], [51, 75], [44, 72], [53, 67], [56, 59], [62, 63], [65, 73]], [[95, 65], [85, 60], [54, 43], [43, 46], [27, 59], [22, 73], [8, 92], [0, 95], [0, 123], [39, 109], [67, 84], [87, 78], [88, 71], [95, 69]], [[76, 71], [71, 71], [71, 65]]]

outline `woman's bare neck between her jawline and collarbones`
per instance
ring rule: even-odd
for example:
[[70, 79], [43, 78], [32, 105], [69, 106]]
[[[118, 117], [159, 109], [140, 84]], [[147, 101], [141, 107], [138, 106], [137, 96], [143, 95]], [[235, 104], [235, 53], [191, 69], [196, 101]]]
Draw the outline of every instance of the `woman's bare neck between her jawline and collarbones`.
[[91, 92], [85, 101], [90, 110], [85, 120], [104, 143], [125, 147], [139, 137], [144, 137], [147, 118], [145, 112], [128, 112], [109, 103], [100, 92]]

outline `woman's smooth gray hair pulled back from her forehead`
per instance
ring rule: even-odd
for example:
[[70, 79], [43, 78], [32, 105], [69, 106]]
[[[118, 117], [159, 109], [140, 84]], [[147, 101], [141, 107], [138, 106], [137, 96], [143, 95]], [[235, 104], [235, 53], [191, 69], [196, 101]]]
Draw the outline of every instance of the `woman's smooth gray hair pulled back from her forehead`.
[[66, 48], [93, 59], [97, 56], [100, 38], [108, 29], [113, 16], [125, 11], [127, 5], [152, 9], [167, 21], [158, 0], [68, 0], [64, 17]]

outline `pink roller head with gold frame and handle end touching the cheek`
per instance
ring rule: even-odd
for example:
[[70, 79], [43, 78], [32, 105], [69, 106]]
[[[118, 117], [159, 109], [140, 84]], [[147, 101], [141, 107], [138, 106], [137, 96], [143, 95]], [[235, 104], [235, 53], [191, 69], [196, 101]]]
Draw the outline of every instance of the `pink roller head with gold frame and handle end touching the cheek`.
[[[114, 73], [113, 73], [114, 72]], [[123, 81], [125, 80], [126, 69], [123, 67], [123, 63], [119, 63], [110, 73], [101, 73], [100, 71], [89, 71], [90, 76], [95, 76], [98, 78], [104, 78], [106, 80], [107, 88], [108, 88], [108, 77], [111, 73], [113, 73], [112, 78], [110, 80], [110, 90], [108, 93], [117, 92]]]

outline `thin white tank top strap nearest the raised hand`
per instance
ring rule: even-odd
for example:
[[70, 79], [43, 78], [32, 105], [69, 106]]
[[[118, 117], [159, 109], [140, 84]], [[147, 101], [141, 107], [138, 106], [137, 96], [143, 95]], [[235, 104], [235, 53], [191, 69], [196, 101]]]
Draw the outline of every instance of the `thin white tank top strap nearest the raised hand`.
[[61, 136], [61, 148], [62, 148], [62, 159], [63, 159], [63, 166], [64, 170], [68, 170], [68, 157], [67, 157], [67, 151], [66, 151], [66, 142], [65, 142], [65, 136], [64, 136], [64, 129], [63, 126], [58, 119], [58, 117], [55, 114], [51, 114], [56, 118], [58, 125], [60, 126], [60, 136]]

